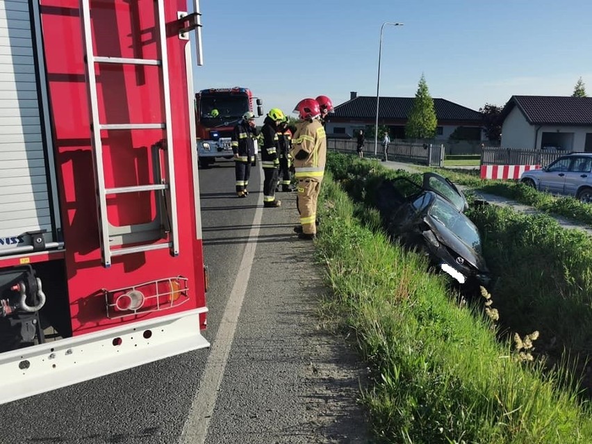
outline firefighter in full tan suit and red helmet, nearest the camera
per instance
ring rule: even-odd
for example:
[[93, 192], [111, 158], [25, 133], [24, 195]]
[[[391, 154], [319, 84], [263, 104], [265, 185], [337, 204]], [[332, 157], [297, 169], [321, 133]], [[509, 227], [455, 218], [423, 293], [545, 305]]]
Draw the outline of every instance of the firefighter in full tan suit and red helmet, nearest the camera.
[[317, 233], [317, 199], [327, 158], [327, 138], [321, 123], [321, 110], [315, 99], [303, 99], [296, 106], [301, 119], [292, 140], [297, 185], [297, 207], [300, 227], [295, 227], [301, 239], [314, 239]]

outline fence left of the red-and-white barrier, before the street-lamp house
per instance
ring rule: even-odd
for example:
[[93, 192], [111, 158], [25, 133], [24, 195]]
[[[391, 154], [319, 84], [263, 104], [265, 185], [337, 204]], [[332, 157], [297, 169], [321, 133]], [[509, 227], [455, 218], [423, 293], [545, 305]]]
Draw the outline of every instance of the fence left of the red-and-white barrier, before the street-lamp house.
[[[340, 151], [348, 154], [356, 154], [356, 140], [327, 139], [329, 151]], [[366, 141], [362, 148], [364, 157], [375, 157], [374, 141]], [[410, 143], [398, 140], [388, 145], [388, 160], [398, 162], [418, 163], [432, 167], [444, 165], [444, 145], [430, 143]], [[379, 142], [377, 158], [384, 158], [382, 145]]]

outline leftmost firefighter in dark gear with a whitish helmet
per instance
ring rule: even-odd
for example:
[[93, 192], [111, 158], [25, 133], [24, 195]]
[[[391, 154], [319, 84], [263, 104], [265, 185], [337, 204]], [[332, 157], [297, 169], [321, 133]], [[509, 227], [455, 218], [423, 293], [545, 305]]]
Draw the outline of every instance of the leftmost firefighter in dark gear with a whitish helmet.
[[242, 115], [242, 119], [234, 127], [231, 147], [234, 154], [234, 174], [236, 177], [236, 195], [247, 197], [247, 185], [251, 176], [251, 163], [255, 158], [255, 138], [257, 128], [255, 115], [251, 111]]

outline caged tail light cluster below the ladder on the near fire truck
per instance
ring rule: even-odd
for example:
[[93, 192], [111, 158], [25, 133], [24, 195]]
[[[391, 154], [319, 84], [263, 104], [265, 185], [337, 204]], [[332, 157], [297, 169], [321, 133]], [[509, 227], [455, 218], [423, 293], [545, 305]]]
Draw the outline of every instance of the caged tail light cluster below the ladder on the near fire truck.
[[133, 287], [103, 290], [107, 318], [164, 311], [188, 302], [188, 285], [184, 277], [170, 277], [140, 283]]

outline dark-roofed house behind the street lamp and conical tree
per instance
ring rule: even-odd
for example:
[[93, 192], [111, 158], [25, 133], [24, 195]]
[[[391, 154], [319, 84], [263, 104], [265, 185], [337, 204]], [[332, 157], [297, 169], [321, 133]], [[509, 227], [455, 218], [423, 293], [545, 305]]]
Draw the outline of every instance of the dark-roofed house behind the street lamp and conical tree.
[[[350, 93], [350, 100], [335, 107], [329, 117], [327, 137], [352, 137], [360, 129], [376, 124], [376, 96]], [[386, 125], [391, 139], [405, 138], [405, 125], [415, 97], [380, 97], [378, 124]], [[464, 140], [483, 140], [483, 115], [445, 99], [434, 99], [438, 126], [436, 139], [448, 140], [457, 131]]]

